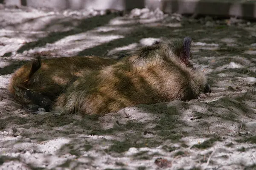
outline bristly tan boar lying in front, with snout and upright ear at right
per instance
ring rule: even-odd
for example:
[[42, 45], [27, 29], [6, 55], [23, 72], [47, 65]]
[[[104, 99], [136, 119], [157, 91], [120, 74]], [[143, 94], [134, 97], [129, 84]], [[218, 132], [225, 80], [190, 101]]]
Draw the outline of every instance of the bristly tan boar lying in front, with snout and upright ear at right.
[[104, 114], [138, 104], [196, 99], [210, 92], [190, 63], [191, 39], [161, 41], [77, 79], [55, 101], [61, 114]]

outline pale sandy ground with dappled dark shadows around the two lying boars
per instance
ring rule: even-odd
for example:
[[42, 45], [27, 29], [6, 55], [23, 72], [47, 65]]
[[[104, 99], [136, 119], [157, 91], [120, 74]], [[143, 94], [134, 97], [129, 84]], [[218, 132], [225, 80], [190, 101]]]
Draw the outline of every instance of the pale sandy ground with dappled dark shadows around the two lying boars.
[[[119, 58], [160, 38], [189, 36], [207, 99], [137, 105], [96, 116], [27, 113], [5, 94], [33, 59]], [[0, 169], [256, 169], [256, 23], [134, 10], [0, 10]]]

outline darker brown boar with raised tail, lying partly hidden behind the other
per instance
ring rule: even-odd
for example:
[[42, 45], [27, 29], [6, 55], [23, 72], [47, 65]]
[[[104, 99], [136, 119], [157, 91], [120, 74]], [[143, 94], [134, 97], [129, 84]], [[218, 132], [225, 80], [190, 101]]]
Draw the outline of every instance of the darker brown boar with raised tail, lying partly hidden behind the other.
[[14, 98], [32, 111], [46, 111], [63, 90], [91, 71], [100, 70], [115, 63], [115, 59], [100, 57], [61, 57], [42, 59], [38, 57], [13, 74], [9, 91]]

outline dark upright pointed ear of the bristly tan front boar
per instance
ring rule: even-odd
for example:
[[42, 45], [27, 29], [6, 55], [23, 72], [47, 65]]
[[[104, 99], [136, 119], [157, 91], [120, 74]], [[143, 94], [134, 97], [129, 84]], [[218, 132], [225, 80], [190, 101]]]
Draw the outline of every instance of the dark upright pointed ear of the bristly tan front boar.
[[183, 40], [183, 44], [180, 51], [180, 59], [186, 65], [189, 64], [189, 60], [191, 59], [191, 42], [192, 39], [190, 37], [185, 37]]

